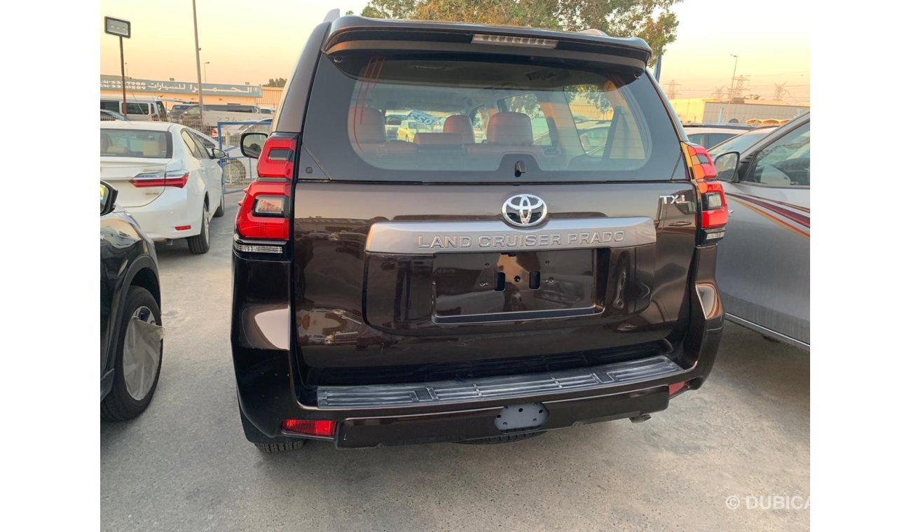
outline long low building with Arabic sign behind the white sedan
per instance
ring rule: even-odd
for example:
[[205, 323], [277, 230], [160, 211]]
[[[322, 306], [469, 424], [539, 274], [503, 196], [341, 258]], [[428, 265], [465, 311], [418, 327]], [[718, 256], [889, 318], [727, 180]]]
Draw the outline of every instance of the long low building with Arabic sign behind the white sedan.
[[[101, 97], [123, 97], [119, 75], [101, 76]], [[202, 84], [202, 96], [207, 104], [243, 104], [268, 107], [278, 105], [282, 88], [260, 85]], [[198, 102], [197, 84], [187, 81], [127, 79], [127, 99], [160, 98], [170, 108], [179, 102]]]

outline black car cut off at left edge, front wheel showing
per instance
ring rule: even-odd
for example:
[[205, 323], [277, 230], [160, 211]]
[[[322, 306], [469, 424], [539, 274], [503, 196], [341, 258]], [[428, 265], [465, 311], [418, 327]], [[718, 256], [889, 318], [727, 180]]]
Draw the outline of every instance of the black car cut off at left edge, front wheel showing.
[[101, 418], [148, 407], [161, 372], [161, 292], [155, 246], [101, 182]]

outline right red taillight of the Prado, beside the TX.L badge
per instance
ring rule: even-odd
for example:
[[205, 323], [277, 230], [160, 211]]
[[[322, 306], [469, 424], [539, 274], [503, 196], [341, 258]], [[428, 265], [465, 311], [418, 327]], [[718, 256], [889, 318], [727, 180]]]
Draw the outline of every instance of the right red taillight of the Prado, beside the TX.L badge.
[[699, 189], [700, 244], [717, 242], [724, 236], [728, 223], [728, 200], [722, 184], [715, 180], [718, 172], [711, 162], [709, 152], [702, 146], [681, 143], [683, 158]]

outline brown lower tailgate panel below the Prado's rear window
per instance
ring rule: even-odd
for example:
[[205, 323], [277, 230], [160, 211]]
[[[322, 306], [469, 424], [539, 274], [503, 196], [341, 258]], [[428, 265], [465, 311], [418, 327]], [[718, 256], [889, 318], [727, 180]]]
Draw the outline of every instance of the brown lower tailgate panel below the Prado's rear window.
[[[305, 364], [451, 363], [628, 346], [669, 336], [687, 316], [695, 216], [660, 196], [691, 198], [691, 186], [520, 189], [546, 198], [552, 214], [513, 238], [492, 213], [514, 186], [299, 184], [294, 305]], [[415, 228], [407, 242], [384, 236], [398, 220]], [[442, 221], [447, 230], [434, 235]], [[620, 242], [592, 242], [624, 230]], [[421, 248], [435, 236], [434, 248]], [[584, 246], [566, 249], [556, 236]], [[478, 239], [503, 244], [486, 251], [473, 247]], [[518, 246], [526, 241], [534, 245]]]

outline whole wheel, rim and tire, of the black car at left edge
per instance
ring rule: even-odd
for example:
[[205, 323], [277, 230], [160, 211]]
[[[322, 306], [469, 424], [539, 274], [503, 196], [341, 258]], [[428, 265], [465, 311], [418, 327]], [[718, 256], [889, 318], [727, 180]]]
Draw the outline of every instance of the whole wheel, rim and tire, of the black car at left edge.
[[107, 421], [126, 421], [142, 414], [159, 385], [164, 341], [157, 351], [136, 346], [137, 320], [161, 325], [161, 311], [148, 290], [130, 286], [118, 330], [114, 384], [101, 401], [101, 418]]

